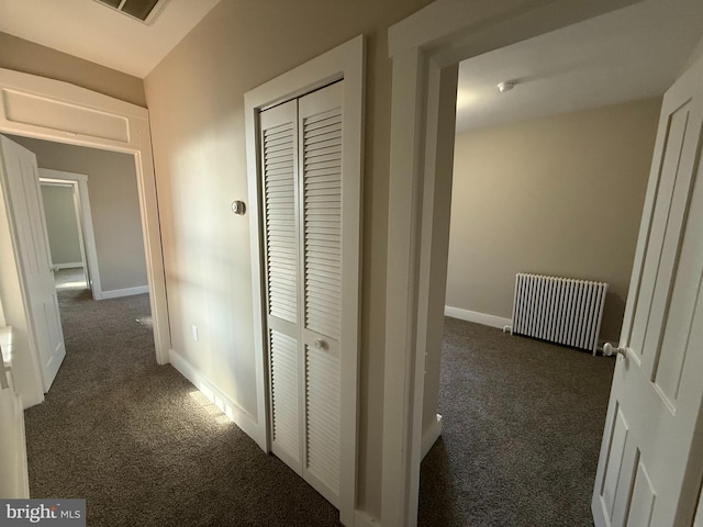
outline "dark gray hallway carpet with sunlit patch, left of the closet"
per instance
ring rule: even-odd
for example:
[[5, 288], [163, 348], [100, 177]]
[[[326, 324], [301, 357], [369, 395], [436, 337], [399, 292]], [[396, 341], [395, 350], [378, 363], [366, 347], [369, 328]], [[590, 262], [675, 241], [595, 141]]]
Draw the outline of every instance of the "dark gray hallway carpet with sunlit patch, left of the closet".
[[66, 359], [25, 412], [32, 497], [82, 497], [88, 525], [335, 526], [337, 511], [156, 365], [148, 296], [59, 292]]

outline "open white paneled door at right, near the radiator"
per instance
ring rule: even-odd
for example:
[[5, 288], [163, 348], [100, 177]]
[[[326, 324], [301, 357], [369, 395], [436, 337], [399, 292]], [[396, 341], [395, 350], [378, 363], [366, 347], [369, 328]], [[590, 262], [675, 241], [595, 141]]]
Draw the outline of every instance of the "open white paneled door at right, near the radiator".
[[691, 526], [703, 462], [703, 60], [666, 93], [592, 500], [596, 527]]

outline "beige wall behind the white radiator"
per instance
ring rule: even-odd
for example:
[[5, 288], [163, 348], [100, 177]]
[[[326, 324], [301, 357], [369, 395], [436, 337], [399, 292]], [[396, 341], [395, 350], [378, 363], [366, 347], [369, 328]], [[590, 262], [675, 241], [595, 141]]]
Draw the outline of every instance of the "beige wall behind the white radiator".
[[462, 133], [446, 303], [510, 318], [516, 272], [610, 283], [622, 326], [660, 99]]

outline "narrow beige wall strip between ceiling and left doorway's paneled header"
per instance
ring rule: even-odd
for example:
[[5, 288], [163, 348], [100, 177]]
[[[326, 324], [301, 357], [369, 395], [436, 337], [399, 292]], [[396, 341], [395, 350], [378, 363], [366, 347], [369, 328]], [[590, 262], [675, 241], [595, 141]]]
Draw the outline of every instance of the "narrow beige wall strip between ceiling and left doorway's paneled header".
[[146, 106], [142, 79], [7, 33], [0, 33], [0, 68], [63, 80]]

